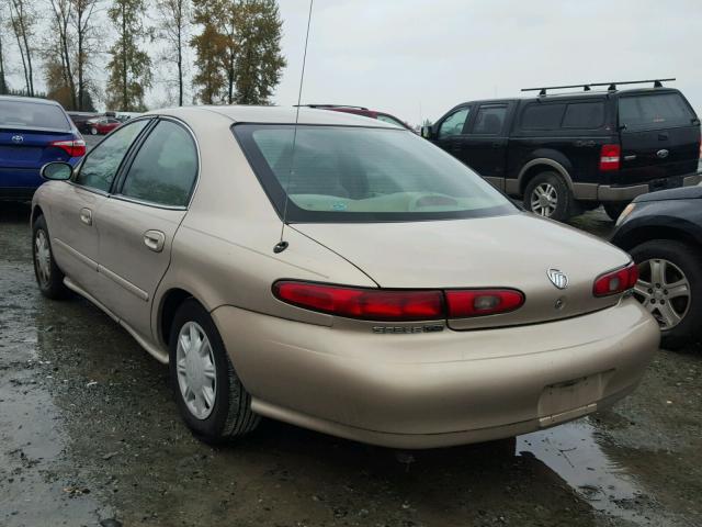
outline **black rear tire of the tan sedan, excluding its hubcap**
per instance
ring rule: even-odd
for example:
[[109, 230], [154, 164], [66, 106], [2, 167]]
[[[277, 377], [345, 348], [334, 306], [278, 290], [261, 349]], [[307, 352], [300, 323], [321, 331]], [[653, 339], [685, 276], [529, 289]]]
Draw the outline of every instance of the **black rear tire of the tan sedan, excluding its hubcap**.
[[[205, 418], [197, 418], [188, 407], [178, 379], [178, 339], [181, 328], [191, 322], [204, 330], [214, 358], [214, 404]], [[251, 412], [251, 396], [231, 365], [219, 332], [207, 311], [194, 299], [183, 302], [176, 313], [169, 339], [169, 359], [178, 408], [195, 437], [204, 442], [220, 444], [244, 436], [258, 426], [261, 418]]]

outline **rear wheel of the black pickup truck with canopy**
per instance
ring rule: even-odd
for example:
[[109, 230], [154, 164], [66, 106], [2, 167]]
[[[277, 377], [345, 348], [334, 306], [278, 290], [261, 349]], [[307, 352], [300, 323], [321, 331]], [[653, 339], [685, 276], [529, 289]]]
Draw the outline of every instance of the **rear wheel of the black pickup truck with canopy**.
[[526, 186], [524, 208], [540, 216], [565, 222], [574, 215], [575, 199], [559, 173], [541, 172]]

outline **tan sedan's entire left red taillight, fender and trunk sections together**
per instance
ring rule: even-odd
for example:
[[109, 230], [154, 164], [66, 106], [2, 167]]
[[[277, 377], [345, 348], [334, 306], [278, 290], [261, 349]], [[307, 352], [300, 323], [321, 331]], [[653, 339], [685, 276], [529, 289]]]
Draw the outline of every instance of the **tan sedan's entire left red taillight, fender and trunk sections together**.
[[365, 321], [467, 318], [514, 311], [524, 294], [513, 289], [387, 290], [280, 280], [276, 299], [297, 307]]

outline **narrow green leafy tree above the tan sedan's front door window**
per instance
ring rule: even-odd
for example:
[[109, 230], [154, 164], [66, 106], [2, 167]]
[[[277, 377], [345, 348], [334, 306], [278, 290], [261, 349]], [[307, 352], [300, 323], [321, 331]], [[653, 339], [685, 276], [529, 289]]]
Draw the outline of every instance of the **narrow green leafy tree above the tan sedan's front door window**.
[[151, 59], [139, 43], [148, 36], [144, 27], [144, 0], [114, 0], [107, 14], [117, 30], [107, 63], [107, 108], [122, 112], [146, 110], [144, 94], [151, 86]]

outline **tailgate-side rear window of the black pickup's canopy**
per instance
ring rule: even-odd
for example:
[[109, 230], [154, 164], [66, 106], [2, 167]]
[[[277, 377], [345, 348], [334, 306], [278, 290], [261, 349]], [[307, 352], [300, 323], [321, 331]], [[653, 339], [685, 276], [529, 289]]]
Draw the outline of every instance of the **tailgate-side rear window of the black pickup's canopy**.
[[619, 124], [627, 130], [684, 126], [694, 113], [679, 93], [621, 97]]

